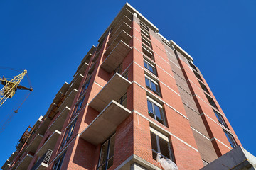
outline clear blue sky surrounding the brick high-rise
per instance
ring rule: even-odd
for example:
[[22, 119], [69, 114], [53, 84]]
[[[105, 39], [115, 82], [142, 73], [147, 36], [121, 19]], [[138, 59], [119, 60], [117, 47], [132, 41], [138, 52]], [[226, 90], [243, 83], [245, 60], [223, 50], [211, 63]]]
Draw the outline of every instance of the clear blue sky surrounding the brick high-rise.
[[[256, 155], [256, 1], [128, 1], [190, 54], [243, 147]], [[0, 166], [44, 115], [125, 1], [1, 1], [0, 66], [27, 69], [33, 93], [0, 135]], [[18, 72], [0, 69], [0, 76]], [[27, 85], [24, 79], [23, 84]], [[27, 91], [0, 108], [0, 120]]]

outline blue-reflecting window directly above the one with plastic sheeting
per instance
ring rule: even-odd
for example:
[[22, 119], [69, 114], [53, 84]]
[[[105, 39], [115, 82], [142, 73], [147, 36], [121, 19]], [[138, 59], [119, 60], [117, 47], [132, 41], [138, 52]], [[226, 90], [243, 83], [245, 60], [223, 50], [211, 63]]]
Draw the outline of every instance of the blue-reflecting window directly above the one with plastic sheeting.
[[147, 106], [148, 106], [148, 113], [151, 118], [154, 118], [159, 123], [166, 125], [165, 122], [165, 115], [164, 115], [164, 109], [159, 103], [156, 103], [156, 101], [153, 101], [153, 99], [147, 99]]

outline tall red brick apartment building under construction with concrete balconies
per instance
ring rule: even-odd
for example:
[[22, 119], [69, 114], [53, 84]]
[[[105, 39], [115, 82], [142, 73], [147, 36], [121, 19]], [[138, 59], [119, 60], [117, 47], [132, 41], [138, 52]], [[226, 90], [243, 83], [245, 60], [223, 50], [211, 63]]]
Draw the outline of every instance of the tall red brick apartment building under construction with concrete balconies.
[[2, 169], [201, 169], [240, 144], [193, 58], [129, 4]]

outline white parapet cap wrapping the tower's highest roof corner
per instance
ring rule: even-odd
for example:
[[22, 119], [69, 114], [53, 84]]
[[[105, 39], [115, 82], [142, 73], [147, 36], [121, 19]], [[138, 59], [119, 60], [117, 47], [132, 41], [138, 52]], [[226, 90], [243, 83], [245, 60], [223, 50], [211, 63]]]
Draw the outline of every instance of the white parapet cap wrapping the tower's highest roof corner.
[[114, 18], [114, 20], [112, 21], [112, 23], [110, 23], [110, 26], [107, 27], [107, 29], [105, 30], [105, 32], [101, 35], [100, 39], [98, 40], [98, 42], [100, 42], [106, 35], [106, 33], [110, 30], [110, 28], [114, 25], [114, 23], [116, 23], [116, 21], [119, 20], [119, 18], [122, 17], [122, 13], [124, 13], [125, 9], [128, 9], [131, 13], [137, 13], [137, 17], [146, 24], [146, 26], [148, 26], [149, 28], [151, 28], [151, 30], [156, 31], [156, 33], [159, 32], [159, 29], [154, 26], [153, 23], [151, 23], [149, 20], [147, 20], [141, 13], [139, 13], [139, 11], [137, 11], [134, 7], [132, 7], [128, 2], [126, 2], [124, 4], [124, 6], [122, 7], [121, 11], [119, 11], [119, 13], [117, 14], [117, 16]]

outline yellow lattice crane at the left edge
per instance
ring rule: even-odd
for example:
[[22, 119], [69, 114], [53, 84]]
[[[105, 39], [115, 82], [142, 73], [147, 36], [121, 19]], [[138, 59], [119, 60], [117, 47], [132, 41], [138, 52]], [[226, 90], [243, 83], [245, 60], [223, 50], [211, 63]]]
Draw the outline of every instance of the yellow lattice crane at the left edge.
[[24, 70], [21, 74], [18, 74], [13, 79], [7, 79], [4, 78], [4, 76], [3, 78], [0, 78], [1, 84], [4, 85], [4, 87], [0, 90], [0, 106], [2, 106], [8, 98], [12, 98], [17, 89], [33, 91], [32, 88], [19, 85], [26, 74], [27, 71]]

